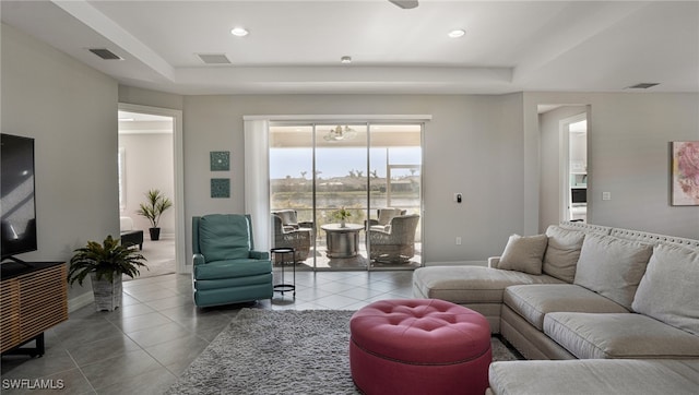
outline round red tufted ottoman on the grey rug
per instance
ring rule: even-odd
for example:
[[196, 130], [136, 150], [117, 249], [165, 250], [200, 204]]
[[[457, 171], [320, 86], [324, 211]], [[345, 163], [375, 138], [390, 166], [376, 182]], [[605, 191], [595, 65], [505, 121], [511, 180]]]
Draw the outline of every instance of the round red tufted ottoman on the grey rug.
[[438, 299], [381, 300], [350, 320], [350, 368], [365, 394], [478, 394], [488, 387], [490, 325]]

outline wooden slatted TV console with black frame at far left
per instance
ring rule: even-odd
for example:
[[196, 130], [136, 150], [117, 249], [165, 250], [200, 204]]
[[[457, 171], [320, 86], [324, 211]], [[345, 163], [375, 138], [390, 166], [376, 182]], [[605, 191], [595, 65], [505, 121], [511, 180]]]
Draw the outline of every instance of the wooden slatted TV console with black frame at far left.
[[[68, 320], [68, 267], [63, 262], [0, 265], [0, 352], [44, 355], [44, 332]], [[22, 347], [36, 340], [35, 348]]]

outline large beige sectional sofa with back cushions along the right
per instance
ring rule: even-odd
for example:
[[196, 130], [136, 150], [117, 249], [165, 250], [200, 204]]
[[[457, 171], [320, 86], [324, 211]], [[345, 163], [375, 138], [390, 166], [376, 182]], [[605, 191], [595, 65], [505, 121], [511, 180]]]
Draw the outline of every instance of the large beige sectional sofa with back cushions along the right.
[[[561, 223], [546, 235], [510, 237], [488, 267], [418, 268], [413, 294], [481, 312], [530, 360], [624, 359], [604, 362], [619, 374], [629, 359], [649, 360], [642, 366], [656, 371], [699, 369], [698, 240]], [[509, 393], [506, 384], [522, 372], [555, 363], [531, 362], [494, 363], [493, 391]], [[597, 383], [595, 369], [603, 368], [590, 363], [557, 369]], [[699, 374], [690, 379], [699, 393]]]

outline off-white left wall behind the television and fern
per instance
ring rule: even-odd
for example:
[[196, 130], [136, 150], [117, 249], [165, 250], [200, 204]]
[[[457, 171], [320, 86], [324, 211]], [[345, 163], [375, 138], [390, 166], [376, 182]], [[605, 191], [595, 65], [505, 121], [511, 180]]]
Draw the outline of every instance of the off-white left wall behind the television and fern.
[[4, 24], [1, 59], [2, 132], [36, 140], [38, 251], [20, 258], [68, 261], [87, 240], [119, 235], [118, 86]]

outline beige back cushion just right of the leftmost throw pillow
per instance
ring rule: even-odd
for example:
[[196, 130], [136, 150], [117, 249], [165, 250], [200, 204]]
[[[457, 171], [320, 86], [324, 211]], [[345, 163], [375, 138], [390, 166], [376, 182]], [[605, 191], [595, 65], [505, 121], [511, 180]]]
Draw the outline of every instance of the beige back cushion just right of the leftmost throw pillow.
[[553, 277], [572, 283], [585, 234], [552, 225], [546, 229], [548, 247], [544, 253], [542, 271]]

